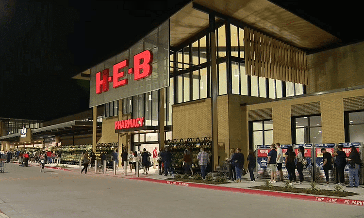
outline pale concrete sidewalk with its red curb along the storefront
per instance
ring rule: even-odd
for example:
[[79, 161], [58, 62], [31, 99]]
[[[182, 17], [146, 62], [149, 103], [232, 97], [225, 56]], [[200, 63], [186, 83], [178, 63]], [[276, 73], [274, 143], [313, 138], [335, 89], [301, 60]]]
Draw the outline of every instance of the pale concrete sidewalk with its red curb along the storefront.
[[[37, 166], [37, 163], [29, 163], [30, 166]], [[62, 164], [61, 164], [62, 165]], [[68, 168], [60, 168], [56, 164], [47, 164], [45, 166], [46, 171], [48, 169], [56, 169], [56, 170], [64, 170], [64, 171], [72, 171], [75, 173], [80, 173], [80, 166], [79, 165], [67, 165]], [[153, 167], [149, 168], [148, 175], [144, 175], [143, 169], [139, 171], [139, 177], [136, 176], [135, 171], [133, 170], [130, 172], [127, 171], [127, 175], [125, 176], [123, 173], [123, 169], [119, 168], [116, 171], [116, 175], [114, 175], [114, 171], [112, 169], [107, 169], [106, 173], [103, 172], [96, 172], [94, 168], [89, 168], [87, 170], [87, 175], [98, 175], [98, 176], [114, 176], [119, 178], [128, 178], [128, 179], [138, 179], [143, 181], [149, 182], [157, 182], [166, 185], [177, 185], [177, 186], [185, 186], [185, 187], [198, 187], [198, 188], [208, 188], [214, 190], [221, 190], [221, 191], [232, 191], [232, 192], [241, 192], [241, 193], [248, 193], [248, 194], [259, 194], [259, 195], [269, 195], [269, 196], [276, 196], [276, 197], [284, 197], [284, 198], [294, 198], [294, 199], [301, 199], [301, 200], [309, 200], [309, 201], [318, 201], [318, 202], [329, 202], [329, 203], [342, 203], [342, 204], [349, 204], [349, 205], [358, 205], [364, 206], [364, 188], [359, 186], [358, 188], [347, 188], [344, 186], [345, 191], [355, 192], [358, 195], [348, 196], [348, 197], [330, 197], [330, 196], [319, 196], [319, 195], [308, 195], [308, 194], [297, 194], [297, 193], [290, 193], [290, 192], [277, 192], [277, 191], [266, 191], [266, 190], [259, 190], [253, 189], [251, 187], [254, 186], [262, 186], [264, 185], [265, 179], [257, 179], [256, 182], [249, 182], [249, 175], [245, 175], [242, 178], [241, 183], [227, 183], [221, 185], [208, 185], [208, 184], [200, 184], [200, 183], [191, 183], [191, 182], [176, 182], [172, 180], [167, 180], [168, 178], [173, 178], [172, 176], [164, 176], [159, 175], [159, 171], [157, 169], [153, 169]], [[83, 172], [84, 174], [84, 172]], [[281, 186], [284, 187], [283, 183], [277, 182], [272, 184], [273, 186]], [[320, 189], [328, 189], [332, 190], [334, 184], [330, 184], [330, 187], [323, 187], [324, 183], [318, 183]], [[298, 188], [309, 188], [310, 182], [304, 182], [303, 185], [296, 185], [294, 187]]]

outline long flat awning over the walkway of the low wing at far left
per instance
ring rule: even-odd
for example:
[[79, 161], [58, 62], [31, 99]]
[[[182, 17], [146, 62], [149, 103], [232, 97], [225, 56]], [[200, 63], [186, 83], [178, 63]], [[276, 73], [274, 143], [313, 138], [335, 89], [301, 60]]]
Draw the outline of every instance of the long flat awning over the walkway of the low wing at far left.
[[[101, 133], [101, 122], [97, 122], [96, 131]], [[62, 124], [50, 125], [32, 130], [32, 139], [44, 139], [54, 136], [79, 136], [92, 134], [93, 122], [74, 120]], [[19, 133], [0, 137], [1, 141], [19, 141]]]

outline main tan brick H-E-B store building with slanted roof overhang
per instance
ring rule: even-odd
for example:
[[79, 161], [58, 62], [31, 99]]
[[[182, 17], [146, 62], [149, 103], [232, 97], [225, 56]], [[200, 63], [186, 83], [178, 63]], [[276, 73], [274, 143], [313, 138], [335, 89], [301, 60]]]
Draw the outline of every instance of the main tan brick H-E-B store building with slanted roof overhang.
[[267, 0], [193, 0], [74, 78], [90, 80], [94, 149], [207, 138], [215, 169], [230, 148], [364, 142], [364, 43], [338, 45]]

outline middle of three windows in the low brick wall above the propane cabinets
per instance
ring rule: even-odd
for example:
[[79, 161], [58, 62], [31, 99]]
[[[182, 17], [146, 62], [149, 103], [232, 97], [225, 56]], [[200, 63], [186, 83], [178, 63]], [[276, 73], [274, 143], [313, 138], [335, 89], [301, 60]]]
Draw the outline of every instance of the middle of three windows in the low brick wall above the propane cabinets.
[[293, 143], [322, 143], [321, 116], [296, 117]]

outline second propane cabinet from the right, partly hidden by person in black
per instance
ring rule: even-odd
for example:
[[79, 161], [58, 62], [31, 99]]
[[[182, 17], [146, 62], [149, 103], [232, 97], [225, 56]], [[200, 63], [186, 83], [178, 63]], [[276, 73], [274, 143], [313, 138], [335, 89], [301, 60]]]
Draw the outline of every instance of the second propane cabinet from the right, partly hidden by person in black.
[[[321, 152], [321, 148], [326, 148], [326, 152], [329, 152], [332, 156], [334, 153], [334, 143], [328, 144], [315, 144], [314, 145], [314, 157], [315, 157], [315, 169], [314, 169], [314, 178], [317, 182], [326, 182], [326, 176], [324, 172], [324, 168], [322, 164], [324, 163], [323, 154]], [[332, 159], [332, 170], [329, 171], [329, 182], [336, 183], [336, 168], [333, 167], [333, 159]]]

